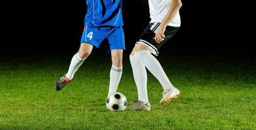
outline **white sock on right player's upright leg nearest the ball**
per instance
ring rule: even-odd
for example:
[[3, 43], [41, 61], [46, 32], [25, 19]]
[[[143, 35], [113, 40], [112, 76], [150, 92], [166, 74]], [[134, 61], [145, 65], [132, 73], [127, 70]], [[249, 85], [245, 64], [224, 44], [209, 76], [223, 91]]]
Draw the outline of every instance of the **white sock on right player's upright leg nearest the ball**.
[[133, 78], [138, 90], [138, 100], [144, 103], [149, 103], [148, 101], [148, 91], [147, 91], [147, 72], [143, 64], [141, 64], [135, 56], [130, 55], [131, 67], [133, 68]]

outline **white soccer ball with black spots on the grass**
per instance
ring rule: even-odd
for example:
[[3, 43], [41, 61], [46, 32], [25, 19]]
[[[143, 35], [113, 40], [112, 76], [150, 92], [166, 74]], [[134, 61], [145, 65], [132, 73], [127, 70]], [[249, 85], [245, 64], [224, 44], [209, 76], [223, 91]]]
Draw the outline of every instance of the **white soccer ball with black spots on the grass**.
[[121, 111], [127, 107], [127, 99], [120, 92], [114, 92], [106, 98], [106, 108], [109, 110]]

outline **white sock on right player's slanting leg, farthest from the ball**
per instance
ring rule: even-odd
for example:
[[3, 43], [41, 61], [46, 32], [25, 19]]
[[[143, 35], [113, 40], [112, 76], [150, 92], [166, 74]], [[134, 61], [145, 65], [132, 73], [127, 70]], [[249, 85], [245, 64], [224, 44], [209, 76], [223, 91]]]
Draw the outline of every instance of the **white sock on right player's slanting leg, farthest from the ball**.
[[153, 55], [150, 54], [148, 50], [141, 50], [135, 53], [135, 58], [139, 59], [140, 63], [144, 64], [146, 68], [158, 79], [158, 81], [163, 86], [165, 91], [174, 88], [172, 83], [170, 83], [165, 71], [163, 70], [161, 64], [158, 62]]

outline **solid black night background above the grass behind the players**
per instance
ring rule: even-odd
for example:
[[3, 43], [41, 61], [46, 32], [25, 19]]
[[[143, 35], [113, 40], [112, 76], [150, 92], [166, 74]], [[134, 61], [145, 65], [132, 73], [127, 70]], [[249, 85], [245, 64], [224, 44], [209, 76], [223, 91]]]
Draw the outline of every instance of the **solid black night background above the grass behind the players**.
[[[253, 11], [241, 1], [182, 1], [182, 27], [161, 51], [254, 55]], [[85, 1], [9, 1], [1, 8], [1, 55], [78, 50]], [[150, 21], [148, 1], [123, 1], [125, 53]], [[168, 53], [166, 53], [168, 54]]]

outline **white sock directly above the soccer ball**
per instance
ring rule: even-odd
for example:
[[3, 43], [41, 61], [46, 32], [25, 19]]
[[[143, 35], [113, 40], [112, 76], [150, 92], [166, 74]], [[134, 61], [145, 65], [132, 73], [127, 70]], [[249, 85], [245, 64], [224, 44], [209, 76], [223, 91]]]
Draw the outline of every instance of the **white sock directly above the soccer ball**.
[[109, 94], [116, 92], [116, 90], [118, 89], [118, 84], [121, 79], [122, 71], [123, 71], [123, 67], [116, 67], [112, 65], [110, 70], [110, 83], [108, 88], [108, 96]]

